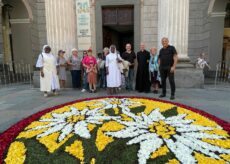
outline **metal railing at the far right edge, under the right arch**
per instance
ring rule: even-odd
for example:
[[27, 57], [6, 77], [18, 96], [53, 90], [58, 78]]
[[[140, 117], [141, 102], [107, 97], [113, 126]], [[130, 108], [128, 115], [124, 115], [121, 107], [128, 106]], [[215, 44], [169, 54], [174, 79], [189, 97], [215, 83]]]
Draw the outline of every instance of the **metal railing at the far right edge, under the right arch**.
[[215, 87], [217, 84], [230, 85], [230, 64], [219, 62], [216, 65]]

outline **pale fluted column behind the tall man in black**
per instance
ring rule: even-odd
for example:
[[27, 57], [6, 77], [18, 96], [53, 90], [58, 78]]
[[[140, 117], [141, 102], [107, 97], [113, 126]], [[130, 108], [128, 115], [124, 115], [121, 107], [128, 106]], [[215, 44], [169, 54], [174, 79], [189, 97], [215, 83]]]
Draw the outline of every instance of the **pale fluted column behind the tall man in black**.
[[162, 37], [167, 37], [179, 60], [188, 61], [189, 0], [159, 0], [158, 6], [158, 48]]

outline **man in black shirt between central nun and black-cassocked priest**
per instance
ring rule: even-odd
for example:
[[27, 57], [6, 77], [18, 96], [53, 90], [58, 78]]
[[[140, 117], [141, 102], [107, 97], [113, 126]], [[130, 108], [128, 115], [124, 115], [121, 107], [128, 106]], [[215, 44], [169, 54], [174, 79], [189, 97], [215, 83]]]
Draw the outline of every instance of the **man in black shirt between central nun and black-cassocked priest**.
[[128, 77], [125, 77], [126, 89], [133, 90], [134, 79], [134, 61], [136, 54], [131, 50], [131, 44], [126, 44], [126, 51], [122, 54], [122, 58], [130, 63]]

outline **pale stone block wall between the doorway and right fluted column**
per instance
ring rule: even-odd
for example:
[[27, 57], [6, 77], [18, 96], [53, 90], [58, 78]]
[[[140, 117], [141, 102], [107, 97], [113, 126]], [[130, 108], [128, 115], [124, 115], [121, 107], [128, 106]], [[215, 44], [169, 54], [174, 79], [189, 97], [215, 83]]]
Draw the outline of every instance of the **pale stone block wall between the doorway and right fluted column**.
[[141, 40], [146, 48], [157, 47], [158, 43], [158, 0], [144, 0], [141, 16]]

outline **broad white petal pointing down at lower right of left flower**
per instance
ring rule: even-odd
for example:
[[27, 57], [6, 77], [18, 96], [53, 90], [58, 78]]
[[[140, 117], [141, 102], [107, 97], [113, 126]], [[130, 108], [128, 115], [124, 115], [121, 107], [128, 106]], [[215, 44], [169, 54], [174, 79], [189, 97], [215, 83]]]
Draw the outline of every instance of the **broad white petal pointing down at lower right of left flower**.
[[91, 137], [87, 127], [87, 123], [85, 121], [80, 121], [77, 124], [75, 124], [74, 132], [82, 138], [89, 139]]

